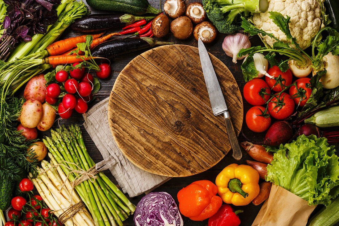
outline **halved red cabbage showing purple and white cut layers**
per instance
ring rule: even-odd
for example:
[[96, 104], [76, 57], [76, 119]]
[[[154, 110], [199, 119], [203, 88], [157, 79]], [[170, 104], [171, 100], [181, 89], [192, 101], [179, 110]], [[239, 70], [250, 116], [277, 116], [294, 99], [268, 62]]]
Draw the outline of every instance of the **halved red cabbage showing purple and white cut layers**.
[[134, 212], [136, 226], [183, 226], [178, 206], [167, 192], [145, 195]]

